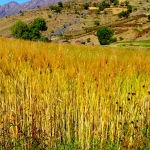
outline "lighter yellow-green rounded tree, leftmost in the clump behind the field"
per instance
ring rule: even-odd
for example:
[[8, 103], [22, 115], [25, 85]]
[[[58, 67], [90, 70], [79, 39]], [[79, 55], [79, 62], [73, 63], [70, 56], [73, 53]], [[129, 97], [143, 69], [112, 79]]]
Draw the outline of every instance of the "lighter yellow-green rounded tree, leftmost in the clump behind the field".
[[27, 24], [19, 20], [11, 28], [12, 35], [17, 39], [29, 39], [29, 28]]

